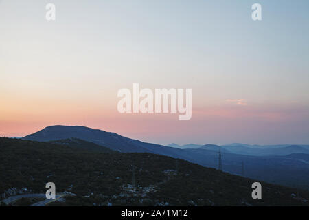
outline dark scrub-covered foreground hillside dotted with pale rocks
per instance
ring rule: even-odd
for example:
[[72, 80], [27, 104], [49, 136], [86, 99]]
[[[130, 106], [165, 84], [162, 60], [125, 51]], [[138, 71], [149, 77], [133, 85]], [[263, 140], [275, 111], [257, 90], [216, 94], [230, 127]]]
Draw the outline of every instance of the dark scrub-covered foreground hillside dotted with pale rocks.
[[[56, 205], [308, 206], [308, 191], [297, 197], [295, 189], [262, 182], [262, 199], [254, 200], [252, 179], [162, 155], [69, 143], [0, 138], [0, 195], [7, 197], [10, 188], [45, 193], [52, 181], [57, 192], [76, 194]], [[130, 185], [133, 167], [136, 188]]]

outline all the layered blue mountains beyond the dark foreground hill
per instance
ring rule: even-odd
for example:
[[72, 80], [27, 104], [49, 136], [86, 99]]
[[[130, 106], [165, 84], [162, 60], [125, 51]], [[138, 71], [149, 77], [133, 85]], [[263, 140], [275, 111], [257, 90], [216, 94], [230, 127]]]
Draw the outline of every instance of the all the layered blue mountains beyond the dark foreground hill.
[[[133, 140], [117, 133], [111, 133], [84, 126], [49, 126], [41, 131], [23, 137], [24, 140], [50, 142], [77, 138], [92, 142], [104, 148], [122, 153], [155, 153], [185, 159], [202, 166], [218, 167], [218, 151], [222, 153], [222, 167], [225, 172], [242, 173], [252, 179], [270, 183], [309, 189], [309, 147], [306, 145], [258, 146], [249, 144], [187, 144], [162, 146]], [[82, 144], [89, 146], [88, 144]], [[91, 146], [91, 149], [95, 146]]]

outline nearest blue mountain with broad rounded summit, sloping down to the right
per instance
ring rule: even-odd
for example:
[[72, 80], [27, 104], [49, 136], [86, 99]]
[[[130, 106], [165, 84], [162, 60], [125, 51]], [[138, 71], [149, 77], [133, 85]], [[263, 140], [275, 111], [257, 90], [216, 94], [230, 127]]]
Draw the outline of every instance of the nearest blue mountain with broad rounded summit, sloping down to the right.
[[118, 135], [117, 133], [90, 129], [84, 126], [48, 126], [41, 131], [23, 137], [23, 140], [50, 142], [69, 138], [78, 138], [87, 142], [93, 142], [94, 144], [122, 153], [155, 153], [196, 162], [195, 153], [187, 153], [179, 148], [141, 142]]

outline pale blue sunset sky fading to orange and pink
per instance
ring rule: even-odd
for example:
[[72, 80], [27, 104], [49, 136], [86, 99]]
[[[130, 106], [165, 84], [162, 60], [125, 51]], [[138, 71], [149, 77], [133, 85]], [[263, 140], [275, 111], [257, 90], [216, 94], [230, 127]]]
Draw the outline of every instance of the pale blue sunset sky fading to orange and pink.
[[[0, 136], [62, 124], [158, 144], [309, 144], [308, 39], [307, 0], [0, 0]], [[133, 83], [192, 89], [192, 119], [119, 113]]]

